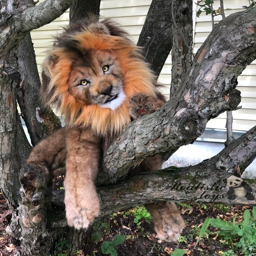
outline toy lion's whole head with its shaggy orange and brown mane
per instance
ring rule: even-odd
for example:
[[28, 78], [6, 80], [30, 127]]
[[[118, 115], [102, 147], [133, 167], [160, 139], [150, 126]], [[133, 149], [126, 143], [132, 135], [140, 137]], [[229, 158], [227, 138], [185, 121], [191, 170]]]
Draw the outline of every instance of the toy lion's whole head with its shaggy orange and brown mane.
[[133, 95], [163, 97], [128, 34], [110, 19], [99, 22], [93, 16], [55, 37], [42, 78], [44, 102], [63, 115], [67, 126], [87, 127], [103, 137], [130, 122]]

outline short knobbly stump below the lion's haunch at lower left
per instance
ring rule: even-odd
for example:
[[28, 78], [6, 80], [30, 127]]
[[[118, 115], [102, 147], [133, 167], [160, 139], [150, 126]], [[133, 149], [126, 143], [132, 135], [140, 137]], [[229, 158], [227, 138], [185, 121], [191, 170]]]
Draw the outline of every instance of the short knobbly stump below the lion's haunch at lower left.
[[21, 169], [19, 178], [19, 222], [22, 256], [48, 256], [53, 239], [47, 229], [46, 212], [51, 195], [44, 173], [36, 168]]

